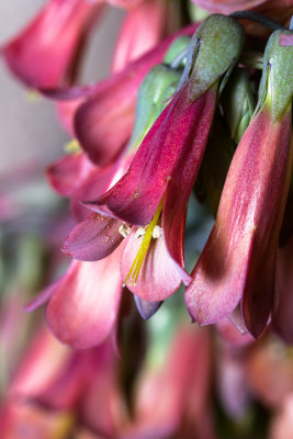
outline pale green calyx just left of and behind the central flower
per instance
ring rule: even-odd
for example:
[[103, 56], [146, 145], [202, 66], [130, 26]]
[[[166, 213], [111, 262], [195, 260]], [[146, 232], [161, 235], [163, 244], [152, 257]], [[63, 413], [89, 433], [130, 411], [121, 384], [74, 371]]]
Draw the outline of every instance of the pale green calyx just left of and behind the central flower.
[[156, 119], [168, 104], [180, 80], [181, 72], [158, 64], [147, 74], [138, 91], [135, 124], [128, 150], [137, 149]]

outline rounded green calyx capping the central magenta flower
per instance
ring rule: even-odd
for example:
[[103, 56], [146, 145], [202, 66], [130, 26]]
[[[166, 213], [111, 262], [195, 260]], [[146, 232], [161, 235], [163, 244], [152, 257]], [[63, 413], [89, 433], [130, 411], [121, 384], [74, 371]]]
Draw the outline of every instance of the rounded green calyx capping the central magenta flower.
[[[193, 35], [180, 87], [190, 82], [189, 97], [194, 101], [222, 77], [222, 85], [240, 56], [245, 32], [230, 16], [207, 16]], [[221, 91], [221, 90], [219, 90]]]

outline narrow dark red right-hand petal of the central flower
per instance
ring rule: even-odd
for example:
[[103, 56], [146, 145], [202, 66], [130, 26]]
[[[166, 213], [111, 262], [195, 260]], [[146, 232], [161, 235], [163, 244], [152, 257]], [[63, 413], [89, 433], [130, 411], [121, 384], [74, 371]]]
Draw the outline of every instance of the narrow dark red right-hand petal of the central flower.
[[176, 164], [176, 172], [173, 172], [165, 193], [162, 228], [166, 246], [178, 264], [185, 285], [192, 279], [184, 270], [183, 240], [187, 205], [204, 155], [214, 114], [215, 98], [214, 92], [207, 92], [190, 104], [191, 125], [185, 124], [184, 120], [178, 121], [178, 130], [180, 130], [180, 124], [183, 124], [184, 135], [188, 135], [189, 142], [182, 145]]

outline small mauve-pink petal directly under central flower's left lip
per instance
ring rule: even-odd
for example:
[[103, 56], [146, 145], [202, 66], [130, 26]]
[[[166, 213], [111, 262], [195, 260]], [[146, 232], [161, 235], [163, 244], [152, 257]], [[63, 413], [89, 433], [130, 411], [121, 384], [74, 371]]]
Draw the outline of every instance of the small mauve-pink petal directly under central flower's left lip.
[[119, 233], [120, 226], [120, 221], [93, 213], [74, 228], [64, 244], [63, 251], [82, 261], [103, 259], [123, 240]]

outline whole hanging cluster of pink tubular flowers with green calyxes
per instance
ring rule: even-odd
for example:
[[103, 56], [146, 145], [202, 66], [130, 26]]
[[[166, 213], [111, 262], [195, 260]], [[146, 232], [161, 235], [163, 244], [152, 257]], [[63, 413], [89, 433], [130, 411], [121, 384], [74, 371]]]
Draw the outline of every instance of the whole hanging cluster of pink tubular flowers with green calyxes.
[[[169, 369], [165, 363], [143, 376], [135, 398], [128, 397], [135, 421], [119, 391], [112, 344], [122, 349], [126, 334], [128, 346], [142, 347], [137, 315], [124, 325], [133, 303], [144, 319], [155, 319], [164, 301], [179, 289], [174, 296], [181, 295], [181, 284], [192, 320], [216, 324], [228, 342], [223, 376], [235, 357], [239, 368], [241, 356], [257, 362], [253, 350], [248, 356], [245, 347], [239, 354], [239, 346], [268, 328], [293, 342], [293, 4], [194, 1], [212, 14], [181, 27], [183, 2], [111, 0], [126, 9], [112, 74], [75, 86], [81, 45], [104, 3], [50, 0], [1, 52], [25, 85], [56, 100], [60, 123], [75, 139], [71, 154], [46, 171], [53, 188], [70, 199], [78, 223], [63, 247], [74, 260], [26, 309], [46, 304], [53, 334], [86, 349], [68, 351], [42, 329], [11, 398], [29, 395], [41, 406], [61, 408], [45, 419], [57, 438], [71, 431], [77, 406], [95, 438], [168, 438], [179, 430], [180, 438], [213, 438], [209, 330], [182, 325], [172, 314], [178, 334]], [[238, 9], [250, 12], [232, 13]], [[190, 10], [198, 13], [194, 5]], [[213, 224], [210, 236], [194, 244], [206, 224]], [[53, 357], [58, 361], [52, 375], [32, 384]], [[135, 374], [133, 363], [126, 374]], [[123, 376], [125, 385], [131, 379]], [[21, 428], [22, 421], [10, 423], [13, 410], [21, 419], [43, 416], [41, 408], [8, 403], [4, 438], [18, 438], [13, 428]], [[41, 437], [40, 430], [34, 435]]]

